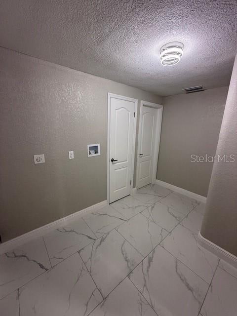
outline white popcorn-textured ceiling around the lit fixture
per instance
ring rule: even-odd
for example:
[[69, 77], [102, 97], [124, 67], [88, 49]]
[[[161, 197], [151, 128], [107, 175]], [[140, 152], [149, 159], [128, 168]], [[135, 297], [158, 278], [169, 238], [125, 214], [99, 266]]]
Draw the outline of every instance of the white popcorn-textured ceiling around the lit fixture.
[[[184, 43], [175, 66], [158, 50]], [[0, 45], [159, 95], [228, 85], [237, 1], [1, 0]]]

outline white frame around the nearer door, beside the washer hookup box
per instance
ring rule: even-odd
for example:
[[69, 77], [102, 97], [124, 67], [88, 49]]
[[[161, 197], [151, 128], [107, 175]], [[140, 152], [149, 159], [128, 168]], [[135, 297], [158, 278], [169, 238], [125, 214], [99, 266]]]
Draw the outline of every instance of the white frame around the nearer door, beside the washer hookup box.
[[134, 164], [135, 164], [135, 144], [136, 144], [136, 129], [137, 129], [137, 105], [138, 100], [125, 97], [123, 95], [114, 94], [108, 92], [107, 94], [107, 204], [110, 203], [110, 99], [111, 97], [134, 102], [135, 108], [135, 116], [134, 116], [134, 126], [133, 126], [133, 141], [132, 141], [132, 167], [131, 167], [131, 185], [130, 185], [130, 194], [132, 194], [133, 188], [133, 178], [134, 178]]

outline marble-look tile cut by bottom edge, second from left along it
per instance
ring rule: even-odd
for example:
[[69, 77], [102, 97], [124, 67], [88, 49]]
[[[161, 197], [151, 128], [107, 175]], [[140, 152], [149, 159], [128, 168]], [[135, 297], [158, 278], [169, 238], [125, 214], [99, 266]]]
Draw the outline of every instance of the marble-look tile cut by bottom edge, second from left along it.
[[[102, 300], [76, 253], [19, 289], [21, 315], [88, 315]], [[33, 314], [34, 313], [34, 314]]]

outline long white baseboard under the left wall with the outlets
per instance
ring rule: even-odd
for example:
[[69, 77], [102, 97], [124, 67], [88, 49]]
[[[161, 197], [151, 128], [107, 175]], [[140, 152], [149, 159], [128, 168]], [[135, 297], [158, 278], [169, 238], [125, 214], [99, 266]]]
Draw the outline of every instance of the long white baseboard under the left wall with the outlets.
[[10, 251], [10, 250], [13, 250], [13, 249], [21, 246], [22, 244], [30, 241], [31, 239], [43, 236], [46, 233], [49, 233], [50, 231], [52, 231], [58, 227], [65, 226], [65, 225], [71, 223], [72, 221], [79, 219], [80, 217], [84, 216], [85, 214], [88, 214], [88, 213], [91, 213], [91, 212], [96, 211], [98, 209], [101, 209], [102, 207], [104, 207], [106, 205], [107, 205], [107, 200], [99, 202], [97, 204], [86, 207], [86, 208], [84, 208], [76, 213], [70, 214], [70, 215], [65, 216], [63, 218], [60, 218], [52, 223], [41, 226], [41, 227], [39, 227], [31, 232], [28, 232], [24, 235], [7, 240], [7, 241], [0, 244], [0, 254], [3, 254], [3, 253]]

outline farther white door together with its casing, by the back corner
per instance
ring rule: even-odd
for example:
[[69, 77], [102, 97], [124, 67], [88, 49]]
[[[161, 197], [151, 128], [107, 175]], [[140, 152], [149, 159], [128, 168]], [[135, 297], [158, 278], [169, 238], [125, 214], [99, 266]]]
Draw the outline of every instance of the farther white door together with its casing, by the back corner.
[[141, 101], [138, 153], [137, 189], [155, 183], [162, 119], [162, 106]]

